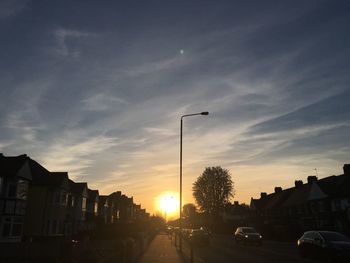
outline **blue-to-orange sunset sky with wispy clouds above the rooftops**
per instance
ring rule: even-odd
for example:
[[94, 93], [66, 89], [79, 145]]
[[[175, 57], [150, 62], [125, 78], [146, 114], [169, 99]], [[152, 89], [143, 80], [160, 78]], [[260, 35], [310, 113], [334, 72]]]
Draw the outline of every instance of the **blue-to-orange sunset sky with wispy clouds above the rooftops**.
[[[147, 211], [205, 167], [232, 201], [350, 162], [350, 2], [0, 0], [0, 152]], [[177, 197], [177, 196], [176, 196]]]

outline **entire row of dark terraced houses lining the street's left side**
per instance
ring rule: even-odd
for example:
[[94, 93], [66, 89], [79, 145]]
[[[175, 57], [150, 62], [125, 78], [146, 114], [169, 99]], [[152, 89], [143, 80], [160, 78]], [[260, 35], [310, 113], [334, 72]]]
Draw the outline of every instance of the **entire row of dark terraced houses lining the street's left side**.
[[67, 172], [51, 172], [27, 155], [0, 154], [0, 242], [65, 238], [98, 224], [133, 222], [133, 198], [120, 191], [100, 196]]

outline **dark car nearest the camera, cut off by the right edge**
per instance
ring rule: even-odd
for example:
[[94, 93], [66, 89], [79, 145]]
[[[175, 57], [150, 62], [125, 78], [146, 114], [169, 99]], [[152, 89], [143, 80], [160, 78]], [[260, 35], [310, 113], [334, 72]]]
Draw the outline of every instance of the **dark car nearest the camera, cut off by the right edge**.
[[307, 231], [297, 244], [302, 257], [323, 258], [332, 262], [350, 259], [350, 239], [338, 232]]

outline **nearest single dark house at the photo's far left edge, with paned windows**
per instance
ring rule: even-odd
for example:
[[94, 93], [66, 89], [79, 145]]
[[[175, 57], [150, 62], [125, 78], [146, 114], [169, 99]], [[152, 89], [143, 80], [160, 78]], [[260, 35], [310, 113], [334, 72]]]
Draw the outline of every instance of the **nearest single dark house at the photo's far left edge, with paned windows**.
[[26, 155], [0, 154], [0, 242], [21, 241], [31, 181]]

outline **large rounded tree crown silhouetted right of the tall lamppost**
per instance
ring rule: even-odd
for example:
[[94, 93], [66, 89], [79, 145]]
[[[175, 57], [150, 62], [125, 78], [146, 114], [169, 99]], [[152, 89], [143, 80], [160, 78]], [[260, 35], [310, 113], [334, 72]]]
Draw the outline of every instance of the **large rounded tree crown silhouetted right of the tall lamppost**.
[[235, 193], [229, 170], [220, 166], [206, 167], [192, 191], [200, 210], [210, 215], [218, 215]]

